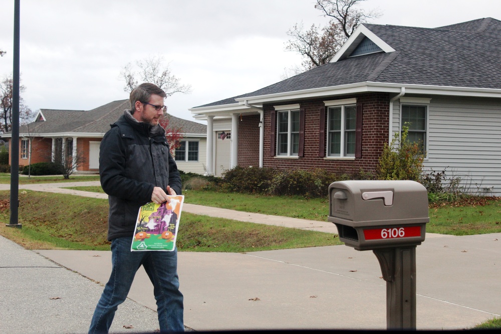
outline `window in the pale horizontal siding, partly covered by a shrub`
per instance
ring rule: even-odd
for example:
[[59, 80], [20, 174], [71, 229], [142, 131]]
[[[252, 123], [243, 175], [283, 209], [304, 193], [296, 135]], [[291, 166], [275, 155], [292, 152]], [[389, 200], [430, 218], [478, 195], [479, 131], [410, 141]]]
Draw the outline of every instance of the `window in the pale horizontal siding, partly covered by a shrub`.
[[[429, 103], [429, 101], [430, 99], [423, 99], [423, 102]], [[423, 154], [426, 154], [428, 106], [424, 104], [412, 104], [411, 100], [406, 102], [403, 98], [400, 102], [402, 109], [400, 124], [402, 127], [406, 126], [409, 129], [407, 139], [411, 143], [418, 143], [421, 146]]]

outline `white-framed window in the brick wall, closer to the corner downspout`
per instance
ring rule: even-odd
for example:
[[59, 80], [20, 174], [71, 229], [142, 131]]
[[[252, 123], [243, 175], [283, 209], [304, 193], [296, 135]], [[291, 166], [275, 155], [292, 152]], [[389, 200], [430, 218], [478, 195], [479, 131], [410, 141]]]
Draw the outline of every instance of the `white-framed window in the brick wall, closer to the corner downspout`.
[[357, 105], [355, 99], [325, 101], [327, 108], [327, 156], [355, 157]]

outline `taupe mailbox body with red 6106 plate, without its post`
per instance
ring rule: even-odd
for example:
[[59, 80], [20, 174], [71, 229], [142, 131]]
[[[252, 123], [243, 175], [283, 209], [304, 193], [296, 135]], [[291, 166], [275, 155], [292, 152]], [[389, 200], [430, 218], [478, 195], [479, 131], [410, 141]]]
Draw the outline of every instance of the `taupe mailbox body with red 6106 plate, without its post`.
[[339, 181], [329, 186], [329, 221], [357, 250], [419, 245], [428, 216], [426, 188], [414, 181]]

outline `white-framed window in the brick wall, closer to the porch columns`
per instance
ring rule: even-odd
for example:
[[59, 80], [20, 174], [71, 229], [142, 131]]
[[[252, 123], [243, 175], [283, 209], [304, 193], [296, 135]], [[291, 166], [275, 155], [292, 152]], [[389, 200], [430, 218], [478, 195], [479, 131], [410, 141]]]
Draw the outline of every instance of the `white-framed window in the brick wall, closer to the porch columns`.
[[277, 110], [277, 156], [298, 156], [300, 151], [299, 105], [275, 107]]

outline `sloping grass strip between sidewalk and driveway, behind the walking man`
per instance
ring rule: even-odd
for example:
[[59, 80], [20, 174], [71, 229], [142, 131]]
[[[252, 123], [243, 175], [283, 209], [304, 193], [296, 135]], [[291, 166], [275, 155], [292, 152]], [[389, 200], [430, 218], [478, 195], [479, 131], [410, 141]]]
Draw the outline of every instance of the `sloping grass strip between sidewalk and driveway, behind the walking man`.
[[[19, 223], [9, 223], [9, 191], [0, 191], [0, 234], [29, 249], [108, 250], [108, 200], [20, 192]], [[341, 244], [337, 235], [182, 213], [182, 251], [246, 252]]]

